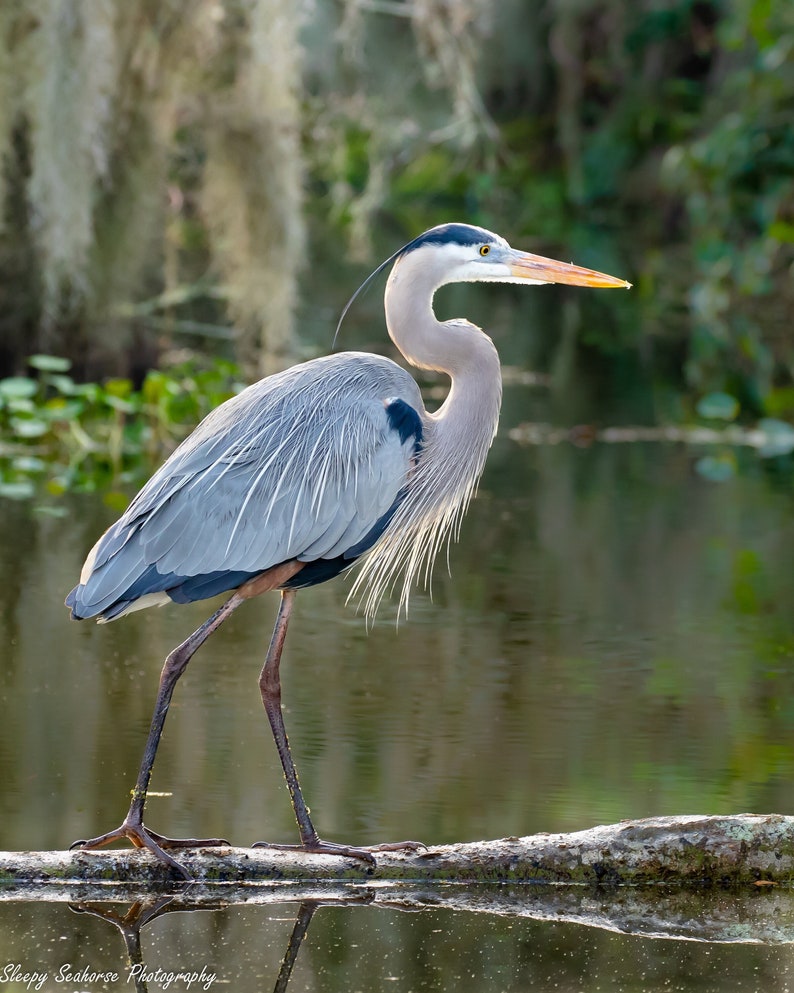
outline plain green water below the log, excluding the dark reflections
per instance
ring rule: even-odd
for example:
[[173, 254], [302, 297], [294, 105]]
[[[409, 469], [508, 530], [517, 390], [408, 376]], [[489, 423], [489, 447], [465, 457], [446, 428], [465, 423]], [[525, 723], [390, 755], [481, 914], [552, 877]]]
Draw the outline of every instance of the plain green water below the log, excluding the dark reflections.
[[[294, 905], [277, 904], [159, 918], [141, 934], [140, 964], [147, 970], [150, 993], [167, 981], [152, 978], [157, 970], [161, 977], [182, 970], [200, 976], [203, 970], [205, 978], [190, 986], [193, 991], [273, 990], [296, 912]], [[105, 921], [78, 915], [65, 904], [0, 904], [0, 925], [6, 935], [0, 970], [8, 962], [28, 974], [47, 973], [41, 989], [48, 993], [136, 989], [121, 935]], [[59, 974], [79, 975], [86, 968], [119, 978], [58, 982]], [[784, 993], [792, 985], [791, 946], [658, 940], [570, 923], [443, 910], [329, 906], [315, 914], [287, 990]], [[25, 988], [22, 982], [6, 985], [14, 993]], [[167, 988], [188, 986], [175, 980]]]

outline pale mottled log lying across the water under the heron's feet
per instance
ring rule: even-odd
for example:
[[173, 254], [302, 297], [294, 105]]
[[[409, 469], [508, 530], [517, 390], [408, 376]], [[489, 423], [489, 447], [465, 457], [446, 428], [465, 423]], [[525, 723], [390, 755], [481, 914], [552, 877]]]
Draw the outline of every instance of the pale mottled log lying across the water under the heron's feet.
[[[267, 848], [179, 853], [197, 882], [421, 881], [689, 886], [780, 883], [794, 878], [794, 817], [781, 814], [654, 817], [572, 834], [539, 834], [355, 859]], [[174, 882], [138, 849], [0, 853], [0, 882]], [[90, 898], [90, 897], [89, 897]]]

